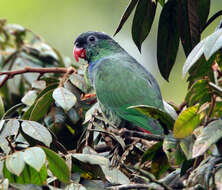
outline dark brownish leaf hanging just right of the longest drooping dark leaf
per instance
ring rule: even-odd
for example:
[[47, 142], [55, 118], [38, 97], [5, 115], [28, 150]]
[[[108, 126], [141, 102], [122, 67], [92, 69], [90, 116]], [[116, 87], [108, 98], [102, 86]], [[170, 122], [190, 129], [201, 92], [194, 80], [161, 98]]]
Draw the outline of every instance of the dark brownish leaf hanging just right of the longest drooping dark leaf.
[[181, 42], [185, 55], [200, 41], [200, 18], [198, 15], [198, 2], [193, 0], [180, 0], [178, 2], [178, 25]]

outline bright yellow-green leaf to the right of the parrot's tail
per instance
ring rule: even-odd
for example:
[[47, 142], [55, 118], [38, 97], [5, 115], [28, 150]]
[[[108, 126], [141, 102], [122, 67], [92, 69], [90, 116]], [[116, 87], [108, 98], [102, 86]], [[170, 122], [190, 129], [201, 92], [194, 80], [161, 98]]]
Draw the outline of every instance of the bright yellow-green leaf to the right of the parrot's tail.
[[198, 105], [184, 110], [175, 121], [173, 135], [175, 138], [185, 138], [192, 134], [201, 123], [202, 114], [198, 114]]

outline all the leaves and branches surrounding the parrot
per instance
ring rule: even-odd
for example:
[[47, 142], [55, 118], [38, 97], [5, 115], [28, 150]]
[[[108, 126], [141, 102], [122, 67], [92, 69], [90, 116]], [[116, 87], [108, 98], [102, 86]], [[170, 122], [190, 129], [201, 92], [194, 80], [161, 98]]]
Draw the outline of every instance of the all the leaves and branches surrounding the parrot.
[[116, 118], [93, 95], [87, 66], [0, 20], [1, 189], [222, 187], [222, 29], [200, 41], [219, 13], [207, 21], [210, 0], [131, 0], [116, 33], [135, 8], [132, 38], [140, 50], [158, 4], [161, 74], [168, 80], [181, 40], [188, 91], [180, 106], [166, 104], [167, 113], [129, 109], [158, 120], [164, 136]]

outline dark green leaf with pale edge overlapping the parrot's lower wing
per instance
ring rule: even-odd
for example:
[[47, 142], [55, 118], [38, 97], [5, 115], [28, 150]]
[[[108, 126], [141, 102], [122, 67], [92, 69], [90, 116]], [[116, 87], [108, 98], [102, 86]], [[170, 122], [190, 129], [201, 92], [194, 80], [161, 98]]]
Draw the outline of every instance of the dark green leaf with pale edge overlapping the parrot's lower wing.
[[174, 119], [166, 112], [147, 105], [130, 106], [129, 109], [136, 109], [142, 114], [152, 117], [156, 120], [160, 120], [161, 123], [165, 124], [168, 129], [173, 129]]

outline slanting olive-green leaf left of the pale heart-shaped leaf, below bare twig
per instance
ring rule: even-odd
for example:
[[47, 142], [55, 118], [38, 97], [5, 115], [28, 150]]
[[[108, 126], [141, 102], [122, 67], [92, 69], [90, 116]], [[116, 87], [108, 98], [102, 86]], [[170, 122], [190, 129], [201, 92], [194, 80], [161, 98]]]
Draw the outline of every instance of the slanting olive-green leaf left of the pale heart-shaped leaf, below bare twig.
[[33, 107], [32, 112], [30, 114], [30, 120], [38, 121], [46, 115], [50, 105], [53, 102], [52, 93], [53, 89], [45, 93], [43, 96], [41, 96], [41, 98], [36, 101], [35, 106]]

